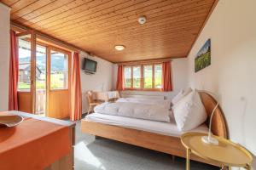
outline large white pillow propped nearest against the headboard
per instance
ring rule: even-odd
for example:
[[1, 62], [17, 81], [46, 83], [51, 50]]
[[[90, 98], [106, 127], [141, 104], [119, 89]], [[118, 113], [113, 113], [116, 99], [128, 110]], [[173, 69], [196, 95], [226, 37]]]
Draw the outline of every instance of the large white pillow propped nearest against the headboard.
[[172, 111], [177, 128], [181, 131], [192, 130], [207, 120], [207, 111], [198, 92], [192, 92], [181, 99]]

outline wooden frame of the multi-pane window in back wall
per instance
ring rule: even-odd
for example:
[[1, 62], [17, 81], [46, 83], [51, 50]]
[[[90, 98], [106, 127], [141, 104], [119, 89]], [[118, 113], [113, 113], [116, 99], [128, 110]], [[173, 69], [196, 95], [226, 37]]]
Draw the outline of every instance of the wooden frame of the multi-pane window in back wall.
[[[152, 65], [152, 88], [144, 88], [144, 66], [147, 65]], [[125, 88], [124, 90], [139, 90], [139, 91], [159, 91], [162, 92], [163, 88], [155, 88], [154, 87], [154, 65], [161, 65], [163, 66], [163, 64], [161, 62], [157, 62], [157, 63], [145, 63], [145, 64], [140, 64], [140, 65], [124, 65], [123, 66], [123, 77], [124, 77], [124, 81], [125, 81], [125, 68], [130, 67], [131, 68], [131, 88]], [[140, 84], [140, 88], [133, 88], [133, 67], [137, 67], [140, 66], [141, 67], [141, 84]], [[162, 72], [163, 74], [163, 72]], [[162, 80], [163, 82], [163, 80]], [[162, 84], [161, 84], [162, 85]], [[125, 86], [125, 83], [124, 83]]]

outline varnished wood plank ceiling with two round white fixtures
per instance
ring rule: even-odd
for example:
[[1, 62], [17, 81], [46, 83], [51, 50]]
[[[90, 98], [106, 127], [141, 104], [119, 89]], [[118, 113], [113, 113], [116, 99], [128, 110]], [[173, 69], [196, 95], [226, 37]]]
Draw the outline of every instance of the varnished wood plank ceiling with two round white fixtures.
[[[112, 62], [186, 57], [215, 0], [1, 0], [11, 20]], [[144, 25], [138, 17], [146, 16]], [[125, 45], [116, 51], [114, 46]]]

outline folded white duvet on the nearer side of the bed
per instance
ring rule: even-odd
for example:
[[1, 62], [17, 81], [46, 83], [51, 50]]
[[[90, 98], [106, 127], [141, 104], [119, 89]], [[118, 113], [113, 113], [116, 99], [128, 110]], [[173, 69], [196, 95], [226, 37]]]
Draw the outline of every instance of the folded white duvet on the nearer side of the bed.
[[102, 105], [97, 105], [94, 111], [96, 113], [113, 116], [127, 116], [160, 122], [170, 122], [169, 107], [161, 103], [145, 104], [125, 101], [103, 103]]

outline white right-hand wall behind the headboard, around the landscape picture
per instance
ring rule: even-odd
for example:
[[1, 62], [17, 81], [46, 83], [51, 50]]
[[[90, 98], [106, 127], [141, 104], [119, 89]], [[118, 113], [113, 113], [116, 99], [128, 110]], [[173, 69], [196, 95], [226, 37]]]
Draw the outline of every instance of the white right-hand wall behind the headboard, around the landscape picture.
[[[256, 155], [256, 1], [221, 0], [189, 54], [189, 85], [219, 95], [230, 139]], [[195, 54], [212, 40], [212, 65], [197, 73]]]

